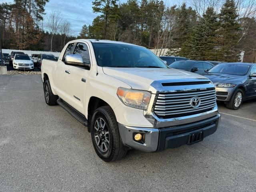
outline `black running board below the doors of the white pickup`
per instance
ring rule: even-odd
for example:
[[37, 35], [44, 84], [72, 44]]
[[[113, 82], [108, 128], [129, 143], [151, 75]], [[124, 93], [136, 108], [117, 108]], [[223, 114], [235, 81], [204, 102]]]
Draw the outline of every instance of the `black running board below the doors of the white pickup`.
[[72, 115], [74, 118], [76, 118], [80, 123], [82, 123], [84, 126], [88, 126], [88, 122], [86, 117], [80, 113], [78, 110], [70, 106], [68, 103], [66, 103], [64, 100], [59, 98], [57, 100], [57, 103], [64, 108], [70, 115]]

